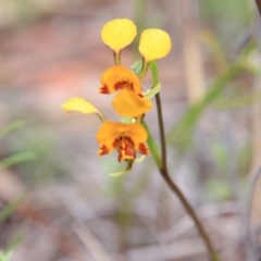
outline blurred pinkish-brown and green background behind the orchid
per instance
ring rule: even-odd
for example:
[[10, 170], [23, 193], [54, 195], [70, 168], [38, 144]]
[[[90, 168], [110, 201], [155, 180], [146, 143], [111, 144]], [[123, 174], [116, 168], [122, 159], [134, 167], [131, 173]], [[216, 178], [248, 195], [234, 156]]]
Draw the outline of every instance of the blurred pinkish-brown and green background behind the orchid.
[[[165, 29], [158, 62], [172, 178], [225, 261], [261, 260], [260, 18], [250, 0], [0, 1], [0, 260], [204, 261], [202, 239], [148, 157], [132, 173], [97, 157], [98, 94], [113, 64], [103, 24]], [[138, 38], [122, 52], [130, 66]], [[151, 77], [144, 88], [151, 87]], [[159, 142], [157, 112], [146, 121]], [[257, 178], [256, 178], [257, 179]]]

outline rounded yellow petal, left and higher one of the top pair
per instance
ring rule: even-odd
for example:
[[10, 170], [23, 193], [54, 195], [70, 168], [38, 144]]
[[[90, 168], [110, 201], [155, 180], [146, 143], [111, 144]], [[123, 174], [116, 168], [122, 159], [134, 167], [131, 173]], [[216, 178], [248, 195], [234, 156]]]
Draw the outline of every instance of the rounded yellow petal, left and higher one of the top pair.
[[128, 46], [137, 35], [137, 28], [133, 21], [128, 18], [115, 18], [101, 29], [101, 39], [116, 53]]

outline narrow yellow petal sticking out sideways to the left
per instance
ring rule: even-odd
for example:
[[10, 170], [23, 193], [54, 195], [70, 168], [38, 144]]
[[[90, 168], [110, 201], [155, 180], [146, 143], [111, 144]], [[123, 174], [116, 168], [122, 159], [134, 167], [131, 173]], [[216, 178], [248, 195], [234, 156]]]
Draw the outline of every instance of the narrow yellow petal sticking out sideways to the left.
[[65, 101], [62, 104], [62, 109], [66, 112], [77, 111], [77, 112], [82, 112], [82, 113], [98, 113], [98, 114], [100, 114], [100, 112], [94, 105], [91, 105], [85, 99], [78, 98], [78, 97], [72, 98], [72, 99]]

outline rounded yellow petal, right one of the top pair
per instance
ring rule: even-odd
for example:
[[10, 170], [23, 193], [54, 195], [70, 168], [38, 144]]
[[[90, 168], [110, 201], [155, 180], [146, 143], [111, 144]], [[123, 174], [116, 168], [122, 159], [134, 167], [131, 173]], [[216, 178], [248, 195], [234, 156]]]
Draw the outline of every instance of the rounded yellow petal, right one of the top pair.
[[164, 58], [171, 50], [171, 38], [161, 29], [146, 29], [139, 41], [139, 52], [147, 62]]

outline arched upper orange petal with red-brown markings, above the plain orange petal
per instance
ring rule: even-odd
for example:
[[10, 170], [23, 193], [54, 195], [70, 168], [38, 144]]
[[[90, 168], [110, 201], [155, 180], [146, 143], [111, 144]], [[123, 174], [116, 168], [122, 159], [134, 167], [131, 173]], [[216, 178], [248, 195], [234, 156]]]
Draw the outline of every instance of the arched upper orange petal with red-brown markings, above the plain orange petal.
[[119, 89], [129, 89], [135, 94], [141, 92], [141, 83], [137, 75], [122, 65], [115, 65], [104, 71], [100, 78], [100, 94], [112, 94]]

